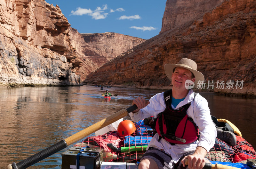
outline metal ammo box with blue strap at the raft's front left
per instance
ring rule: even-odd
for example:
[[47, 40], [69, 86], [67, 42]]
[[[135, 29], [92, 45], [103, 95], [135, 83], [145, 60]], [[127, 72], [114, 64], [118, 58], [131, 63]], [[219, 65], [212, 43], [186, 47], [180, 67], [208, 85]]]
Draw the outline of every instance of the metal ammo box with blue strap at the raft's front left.
[[79, 163], [80, 169], [100, 169], [102, 154], [103, 149], [71, 147], [61, 154], [61, 168], [76, 169], [76, 163]]

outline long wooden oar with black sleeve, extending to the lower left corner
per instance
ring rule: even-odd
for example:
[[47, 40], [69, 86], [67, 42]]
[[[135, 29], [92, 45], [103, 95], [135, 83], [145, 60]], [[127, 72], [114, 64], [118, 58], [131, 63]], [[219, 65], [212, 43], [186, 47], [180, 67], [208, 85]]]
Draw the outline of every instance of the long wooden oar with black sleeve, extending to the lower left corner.
[[106, 127], [107, 125], [114, 123], [115, 121], [119, 120], [120, 118], [123, 118], [127, 116], [128, 113], [130, 113], [133, 110], [138, 109], [138, 107], [134, 104], [133, 106], [122, 109], [115, 114], [108, 116], [107, 118], [104, 118], [103, 120], [85, 128], [84, 130], [81, 130], [77, 132], [76, 134], [66, 138], [65, 140], [61, 140], [60, 142], [53, 144], [52, 146], [20, 161], [19, 163], [13, 162], [12, 164], [9, 164], [7, 166], [7, 169], [24, 169], [27, 168], [33, 164], [36, 164], [38, 161], [43, 160], [44, 158], [47, 158], [51, 156], [52, 154], [68, 147], [70, 144], [75, 143], [76, 141], [81, 140], [85, 136], [88, 136], [92, 134], [93, 132], [100, 130], [103, 127]]

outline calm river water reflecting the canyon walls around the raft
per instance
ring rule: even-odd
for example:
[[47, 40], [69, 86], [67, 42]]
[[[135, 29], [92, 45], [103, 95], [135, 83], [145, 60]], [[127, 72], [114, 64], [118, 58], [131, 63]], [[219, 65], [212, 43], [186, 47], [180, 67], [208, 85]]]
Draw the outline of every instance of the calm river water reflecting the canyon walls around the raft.
[[[106, 89], [113, 95], [117, 94], [117, 98], [104, 99], [101, 94]], [[0, 168], [6, 168], [12, 162], [18, 163], [130, 107], [132, 100], [138, 96], [148, 100], [160, 92], [115, 87], [100, 90], [100, 87], [94, 86], [0, 89]], [[212, 116], [235, 124], [242, 136], [256, 148], [256, 99], [199, 93], [207, 99]], [[29, 168], [61, 168], [61, 153], [72, 145]]]

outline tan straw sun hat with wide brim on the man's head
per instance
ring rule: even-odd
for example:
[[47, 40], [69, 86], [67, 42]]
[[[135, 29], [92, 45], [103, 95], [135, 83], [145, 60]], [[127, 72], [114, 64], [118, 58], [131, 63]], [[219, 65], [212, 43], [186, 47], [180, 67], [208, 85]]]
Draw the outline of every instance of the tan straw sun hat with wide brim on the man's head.
[[196, 62], [191, 60], [191, 59], [188, 59], [188, 58], [182, 58], [178, 64], [165, 64], [164, 65], [164, 71], [165, 71], [165, 74], [166, 76], [172, 81], [172, 73], [173, 73], [173, 69], [175, 67], [183, 67], [183, 68], [186, 68], [188, 70], [190, 70], [194, 75], [195, 75], [195, 86], [194, 88], [197, 87], [197, 83], [198, 81], [202, 81], [201, 84], [203, 83], [204, 81], [204, 75], [197, 71], [196, 70]]

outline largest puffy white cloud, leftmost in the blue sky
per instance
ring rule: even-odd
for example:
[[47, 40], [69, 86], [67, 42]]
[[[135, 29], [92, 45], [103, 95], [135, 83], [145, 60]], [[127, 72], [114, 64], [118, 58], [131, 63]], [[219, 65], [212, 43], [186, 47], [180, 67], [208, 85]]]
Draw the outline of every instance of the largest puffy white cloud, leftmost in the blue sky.
[[76, 11], [71, 11], [70, 15], [89, 15], [92, 16], [93, 19], [105, 19], [108, 13], [104, 12], [108, 9], [107, 4], [101, 7], [97, 7], [94, 11], [91, 9], [83, 9], [83, 8], [76, 8]]

